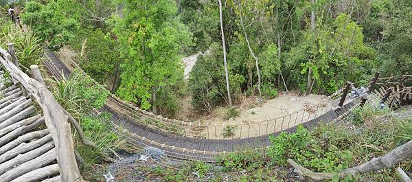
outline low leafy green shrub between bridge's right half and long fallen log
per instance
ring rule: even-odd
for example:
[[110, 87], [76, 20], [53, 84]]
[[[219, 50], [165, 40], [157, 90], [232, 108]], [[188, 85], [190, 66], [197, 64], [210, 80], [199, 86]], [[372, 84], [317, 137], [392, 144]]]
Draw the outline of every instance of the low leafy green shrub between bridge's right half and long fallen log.
[[272, 146], [269, 147], [268, 155], [276, 163], [286, 164], [286, 159], [294, 159], [318, 172], [343, 170], [352, 162], [352, 152], [341, 150], [339, 146], [336, 146], [337, 143], [326, 140], [333, 136], [328, 136], [328, 134], [330, 133], [324, 133], [322, 130], [314, 133], [314, 135], [322, 135], [323, 138], [318, 141], [312, 133], [299, 125], [296, 133], [271, 136], [269, 139]]

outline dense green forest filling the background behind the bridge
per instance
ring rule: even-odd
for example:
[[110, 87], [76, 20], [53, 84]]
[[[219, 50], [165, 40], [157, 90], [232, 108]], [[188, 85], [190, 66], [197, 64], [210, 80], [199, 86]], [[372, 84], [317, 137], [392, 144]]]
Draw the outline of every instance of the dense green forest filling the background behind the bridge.
[[[328, 95], [347, 80], [401, 75], [412, 64], [407, 0], [222, 1], [221, 19], [209, 0], [16, 5], [49, 49], [69, 45], [120, 98], [171, 117], [186, 95], [196, 111], [211, 112], [245, 95]], [[184, 80], [181, 58], [197, 52]]]

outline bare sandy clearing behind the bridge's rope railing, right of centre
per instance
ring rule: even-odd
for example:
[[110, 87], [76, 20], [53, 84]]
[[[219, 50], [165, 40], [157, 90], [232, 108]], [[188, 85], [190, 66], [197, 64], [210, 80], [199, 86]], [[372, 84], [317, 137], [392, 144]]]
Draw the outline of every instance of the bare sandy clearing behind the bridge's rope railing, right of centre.
[[[275, 133], [321, 115], [330, 109], [327, 106], [328, 98], [325, 95], [303, 95], [294, 93], [279, 95], [273, 100], [259, 102], [257, 99], [249, 100], [238, 107], [238, 117], [222, 120], [216, 113], [203, 120], [198, 120], [208, 127], [195, 128], [201, 130], [199, 137], [209, 139], [229, 139], [257, 137]], [[216, 126], [215, 126], [216, 124]], [[225, 127], [233, 130], [225, 131]]]

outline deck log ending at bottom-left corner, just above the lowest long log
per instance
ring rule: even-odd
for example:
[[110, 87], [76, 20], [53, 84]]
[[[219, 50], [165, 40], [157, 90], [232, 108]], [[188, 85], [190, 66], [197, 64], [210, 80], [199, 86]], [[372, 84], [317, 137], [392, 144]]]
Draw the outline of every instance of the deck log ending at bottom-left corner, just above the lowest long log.
[[52, 163], [52, 161], [55, 160], [56, 148], [52, 148], [48, 152], [45, 152], [43, 155], [22, 163], [21, 165], [16, 166], [16, 168], [12, 168], [7, 172], [4, 172], [3, 174], [1, 174], [0, 179], [3, 181], [11, 181], [13, 179], [16, 179], [16, 177], [20, 177], [27, 172], [35, 170], [36, 168], [46, 166], [47, 164]]

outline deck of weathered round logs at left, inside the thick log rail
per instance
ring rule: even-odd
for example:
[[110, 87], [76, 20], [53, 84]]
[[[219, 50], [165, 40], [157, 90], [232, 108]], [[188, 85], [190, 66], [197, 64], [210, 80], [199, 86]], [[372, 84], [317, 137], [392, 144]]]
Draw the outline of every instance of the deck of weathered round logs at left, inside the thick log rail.
[[0, 181], [60, 181], [44, 117], [21, 88], [0, 78]]

